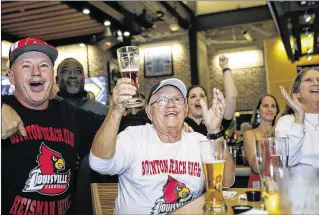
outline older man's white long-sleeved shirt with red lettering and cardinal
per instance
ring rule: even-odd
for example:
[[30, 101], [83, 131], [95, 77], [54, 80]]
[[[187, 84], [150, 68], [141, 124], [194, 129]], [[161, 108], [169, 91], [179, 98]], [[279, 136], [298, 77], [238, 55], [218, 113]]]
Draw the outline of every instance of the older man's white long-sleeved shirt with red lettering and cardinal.
[[119, 174], [116, 214], [166, 214], [199, 197], [205, 188], [199, 133], [183, 131], [176, 143], [163, 143], [153, 125], [128, 127], [116, 141], [115, 155], [90, 154], [101, 174]]

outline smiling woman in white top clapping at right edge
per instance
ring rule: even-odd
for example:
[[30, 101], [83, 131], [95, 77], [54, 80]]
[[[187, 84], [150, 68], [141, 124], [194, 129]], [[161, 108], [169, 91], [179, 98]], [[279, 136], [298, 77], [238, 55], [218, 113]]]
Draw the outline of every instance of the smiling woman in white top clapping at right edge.
[[288, 166], [319, 168], [319, 69], [302, 69], [290, 95], [280, 89], [287, 106], [275, 132], [278, 137], [288, 138]]

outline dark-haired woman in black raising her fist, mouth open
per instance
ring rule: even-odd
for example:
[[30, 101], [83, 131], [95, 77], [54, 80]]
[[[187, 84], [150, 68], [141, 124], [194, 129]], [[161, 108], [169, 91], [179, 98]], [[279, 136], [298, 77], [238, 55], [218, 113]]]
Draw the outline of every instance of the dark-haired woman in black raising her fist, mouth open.
[[[238, 93], [231, 71], [228, 68], [228, 58], [226, 56], [222, 55], [219, 57], [219, 66], [224, 74], [226, 101], [226, 110], [222, 126], [224, 130], [227, 130], [236, 110]], [[187, 91], [188, 117], [186, 117], [185, 122], [192, 127], [194, 131], [207, 135], [205, 121], [209, 120], [203, 118], [201, 102], [205, 102], [208, 106], [206, 90], [199, 85], [191, 86]]]

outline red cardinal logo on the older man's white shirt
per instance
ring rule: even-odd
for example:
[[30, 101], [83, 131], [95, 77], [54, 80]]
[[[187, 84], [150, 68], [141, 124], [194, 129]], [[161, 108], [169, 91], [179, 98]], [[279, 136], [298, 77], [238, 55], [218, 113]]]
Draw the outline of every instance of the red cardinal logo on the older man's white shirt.
[[189, 188], [172, 176], [168, 176], [167, 182], [163, 186], [163, 193], [163, 197], [156, 200], [151, 214], [166, 214], [194, 199]]

